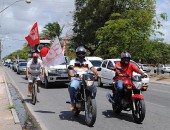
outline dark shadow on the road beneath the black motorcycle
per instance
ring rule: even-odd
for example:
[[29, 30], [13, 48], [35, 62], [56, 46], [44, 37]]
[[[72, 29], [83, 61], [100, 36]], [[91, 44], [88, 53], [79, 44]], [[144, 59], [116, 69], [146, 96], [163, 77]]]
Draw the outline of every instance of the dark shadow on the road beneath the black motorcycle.
[[86, 125], [84, 115], [80, 114], [79, 116], [74, 116], [71, 111], [61, 111], [59, 117], [61, 120], [75, 121], [82, 125]]

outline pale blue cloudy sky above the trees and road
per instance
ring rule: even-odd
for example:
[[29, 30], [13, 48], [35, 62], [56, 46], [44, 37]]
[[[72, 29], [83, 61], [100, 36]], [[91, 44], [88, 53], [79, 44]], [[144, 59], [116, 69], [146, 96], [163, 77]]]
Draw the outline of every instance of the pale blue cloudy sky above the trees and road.
[[[0, 0], [0, 11], [18, 0]], [[35, 22], [38, 23], [39, 33], [43, 27], [50, 22], [58, 22], [64, 26], [62, 37], [66, 33], [71, 34], [72, 15], [75, 0], [31, 0], [27, 4], [25, 0], [19, 0], [9, 8], [0, 13], [0, 40], [2, 58], [11, 52], [22, 49], [26, 43], [25, 36], [31, 30]], [[165, 12], [167, 21], [162, 21], [160, 29], [164, 33], [164, 42], [170, 43], [170, 0], [157, 0], [156, 13]], [[158, 17], [159, 19], [159, 17]]]

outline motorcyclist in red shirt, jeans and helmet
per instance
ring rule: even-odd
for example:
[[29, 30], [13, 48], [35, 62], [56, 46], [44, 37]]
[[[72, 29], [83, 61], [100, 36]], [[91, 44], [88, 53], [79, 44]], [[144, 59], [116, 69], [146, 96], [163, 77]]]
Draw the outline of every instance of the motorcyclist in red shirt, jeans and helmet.
[[140, 70], [134, 63], [130, 62], [130, 59], [130, 53], [124, 51], [121, 53], [121, 61], [117, 62], [114, 66], [114, 70], [116, 72], [114, 77], [116, 87], [114, 102], [117, 105], [120, 103], [120, 96], [123, 90], [123, 76], [128, 75], [132, 77], [132, 73], [133, 71], [135, 71], [136, 73], [139, 73], [142, 76], [146, 77], [145, 73], [142, 70]]

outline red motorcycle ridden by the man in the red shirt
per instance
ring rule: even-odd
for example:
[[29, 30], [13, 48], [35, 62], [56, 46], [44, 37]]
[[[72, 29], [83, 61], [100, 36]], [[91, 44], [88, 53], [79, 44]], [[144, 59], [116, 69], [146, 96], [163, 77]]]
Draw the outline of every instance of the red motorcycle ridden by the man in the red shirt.
[[130, 77], [129, 75], [123, 75], [123, 92], [120, 96], [120, 103], [115, 104], [113, 101], [116, 93], [116, 86], [113, 85], [112, 95], [108, 93], [106, 95], [108, 101], [112, 104], [113, 112], [120, 114], [122, 110], [131, 111], [134, 122], [141, 123], [145, 118], [145, 102], [143, 91], [147, 91], [148, 86], [144, 86], [142, 83], [142, 76], [135, 75]]

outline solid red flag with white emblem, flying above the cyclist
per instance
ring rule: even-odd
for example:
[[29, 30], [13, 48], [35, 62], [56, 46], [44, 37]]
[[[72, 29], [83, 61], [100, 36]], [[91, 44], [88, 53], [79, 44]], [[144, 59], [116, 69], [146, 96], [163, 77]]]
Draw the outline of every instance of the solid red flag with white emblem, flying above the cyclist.
[[32, 26], [29, 35], [26, 36], [25, 39], [28, 41], [30, 47], [34, 47], [36, 44], [40, 44], [40, 35], [38, 32], [37, 22]]

